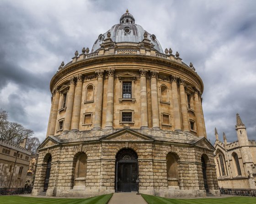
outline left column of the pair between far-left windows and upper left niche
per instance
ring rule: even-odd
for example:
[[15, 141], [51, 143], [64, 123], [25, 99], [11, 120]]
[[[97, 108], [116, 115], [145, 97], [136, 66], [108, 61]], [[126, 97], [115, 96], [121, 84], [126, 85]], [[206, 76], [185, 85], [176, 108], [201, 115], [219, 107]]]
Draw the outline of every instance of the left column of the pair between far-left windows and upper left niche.
[[66, 109], [66, 116], [64, 120], [63, 131], [70, 131], [73, 104], [74, 104], [75, 76], [71, 76], [69, 78], [69, 83], [70, 85], [69, 85], [69, 91], [68, 91], [68, 101], [67, 101], [67, 109]]

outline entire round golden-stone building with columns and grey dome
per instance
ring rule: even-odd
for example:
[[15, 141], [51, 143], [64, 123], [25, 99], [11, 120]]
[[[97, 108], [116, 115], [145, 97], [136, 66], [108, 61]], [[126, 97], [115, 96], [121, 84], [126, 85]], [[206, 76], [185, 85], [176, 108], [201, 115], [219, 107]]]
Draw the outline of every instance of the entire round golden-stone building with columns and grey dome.
[[128, 10], [91, 52], [61, 63], [50, 90], [33, 195], [219, 194], [202, 79]]

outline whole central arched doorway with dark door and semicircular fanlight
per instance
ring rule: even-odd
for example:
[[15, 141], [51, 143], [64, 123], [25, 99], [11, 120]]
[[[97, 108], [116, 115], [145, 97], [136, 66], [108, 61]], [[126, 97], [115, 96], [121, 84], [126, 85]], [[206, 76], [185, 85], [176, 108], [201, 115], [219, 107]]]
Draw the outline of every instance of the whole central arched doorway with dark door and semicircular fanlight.
[[116, 192], [138, 190], [138, 156], [132, 149], [122, 149], [116, 156]]

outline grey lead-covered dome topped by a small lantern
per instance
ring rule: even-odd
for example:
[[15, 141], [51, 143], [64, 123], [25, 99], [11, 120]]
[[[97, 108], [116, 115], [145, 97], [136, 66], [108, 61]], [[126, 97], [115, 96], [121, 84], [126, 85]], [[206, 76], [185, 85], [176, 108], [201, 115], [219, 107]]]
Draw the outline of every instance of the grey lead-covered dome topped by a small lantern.
[[107, 33], [110, 32], [111, 39], [114, 42], [122, 43], [122, 42], [134, 42], [139, 43], [144, 39], [144, 33], [148, 34], [148, 39], [150, 43], [154, 45], [154, 49], [163, 53], [163, 49], [156, 39], [155, 35], [150, 34], [149, 32], [145, 31], [142, 26], [135, 24], [135, 19], [133, 15], [131, 15], [128, 10], [124, 13], [120, 18], [120, 23], [112, 26], [110, 30], [108, 30], [104, 34], [100, 34], [98, 39], [92, 46], [91, 52], [95, 52], [101, 48], [101, 44], [105, 39], [107, 39]]

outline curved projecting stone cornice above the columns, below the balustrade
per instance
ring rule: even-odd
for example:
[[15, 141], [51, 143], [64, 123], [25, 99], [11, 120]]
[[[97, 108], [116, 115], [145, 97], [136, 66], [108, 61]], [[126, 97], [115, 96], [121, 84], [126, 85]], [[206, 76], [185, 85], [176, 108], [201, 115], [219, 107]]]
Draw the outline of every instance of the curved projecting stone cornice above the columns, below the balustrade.
[[[68, 66], [64, 67], [63, 69], [59, 70], [51, 79], [50, 81], [50, 90], [52, 91], [55, 84], [59, 81], [59, 79], [62, 79], [63, 76], [68, 75], [72, 71], [75, 71], [76, 69], [79, 69], [84, 66], [91, 66], [91, 65], [97, 65], [102, 63], [117, 63], [117, 62], [123, 62], [123, 61], [129, 61], [129, 62], [140, 62], [140, 63], [154, 63], [158, 65], [165, 65], [165, 66], [171, 66], [172, 68], [176, 68], [179, 71], [183, 71], [184, 73], [188, 74], [192, 77], [192, 79], [195, 79], [200, 87], [200, 91], [203, 92], [203, 81], [201, 77], [192, 69], [190, 69], [185, 64], [180, 64], [176, 61], [172, 61], [169, 59], [159, 58], [157, 56], [143, 56], [143, 55], [107, 55], [107, 56], [96, 56], [89, 59], [73, 62], [69, 64]], [[145, 67], [150, 70], [150, 68]], [[154, 69], [154, 68], [153, 68]], [[94, 72], [90, 71], [90, 72]], [[90, 73], [89, 72], [89, 73]], [[160, 71], [160, 73], [167, 74], [167, 70]]]

